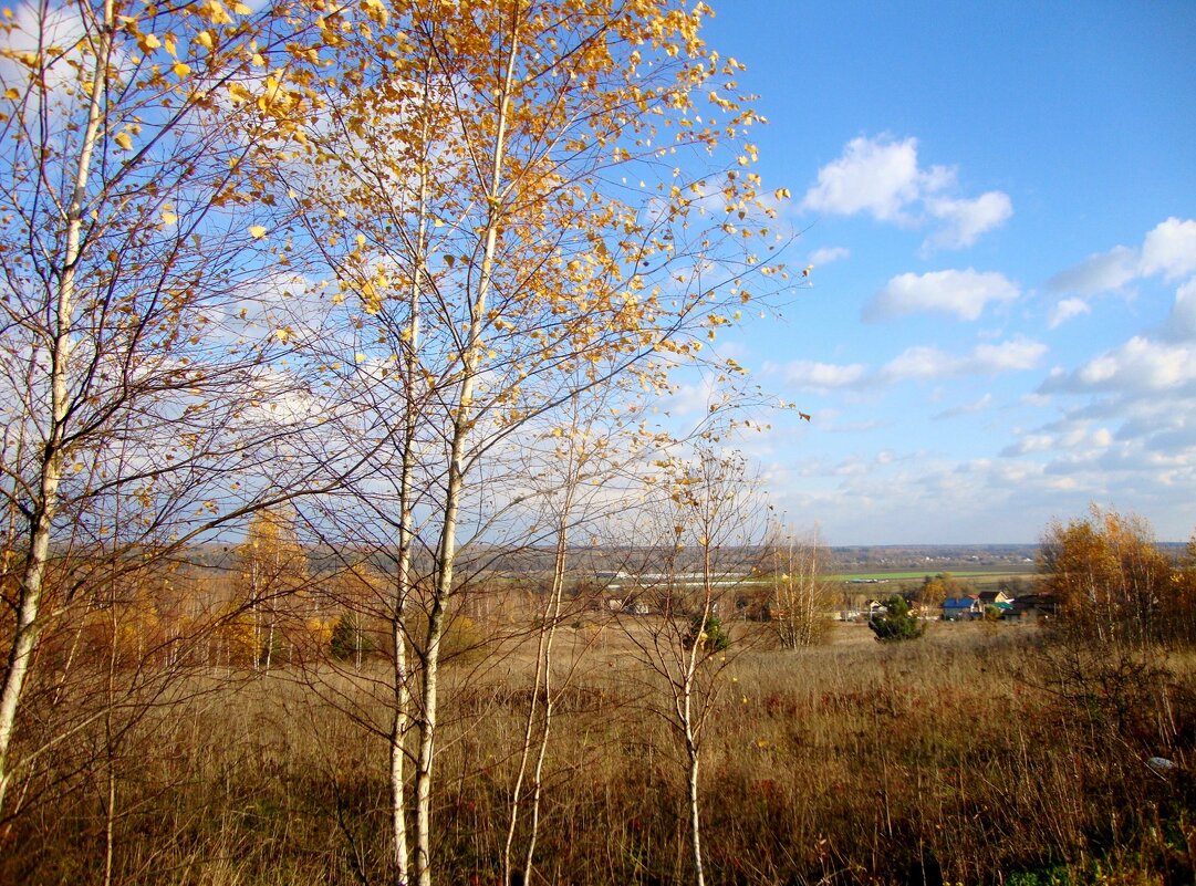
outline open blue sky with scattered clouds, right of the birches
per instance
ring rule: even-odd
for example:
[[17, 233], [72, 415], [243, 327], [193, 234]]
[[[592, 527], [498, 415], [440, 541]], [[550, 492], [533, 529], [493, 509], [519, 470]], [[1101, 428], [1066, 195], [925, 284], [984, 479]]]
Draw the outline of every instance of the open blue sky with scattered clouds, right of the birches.
[[1196, 528], [1196, 4], [724, 0], [813, 286], [722, 347], [831, 544]]

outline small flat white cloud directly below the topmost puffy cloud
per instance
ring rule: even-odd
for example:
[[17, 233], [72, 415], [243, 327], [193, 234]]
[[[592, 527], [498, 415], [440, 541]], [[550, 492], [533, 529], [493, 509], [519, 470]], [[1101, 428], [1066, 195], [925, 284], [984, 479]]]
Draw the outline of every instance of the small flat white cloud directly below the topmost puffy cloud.
[[936, 270], [928, 274], [901, 274], [890, 280], [864, 308], [867, 322], [899, 317], [919, 311], [956, 314], [975, 320], [990, 301], [1018, 298], [1017, 285], [996, 271]]

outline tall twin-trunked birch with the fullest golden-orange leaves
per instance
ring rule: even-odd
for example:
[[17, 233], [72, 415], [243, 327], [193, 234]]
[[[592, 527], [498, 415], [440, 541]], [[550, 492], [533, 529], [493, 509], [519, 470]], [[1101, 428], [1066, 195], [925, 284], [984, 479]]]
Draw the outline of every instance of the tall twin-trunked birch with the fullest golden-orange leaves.
[[708, 12], [506, 0], [322, 19], [340, 68], [283, 166], [340, 320], [309, 360], [358, 439], [386, 442], [360, 497], [396, 542], [395, 636], [416, 641], [410, 661], [393, 643], [399, 882], [432, 879], [441, 641], [463, 546], [523, 494], [505, 442], [578, 391], [664, 390], [756, 282], [783, 277], [751, 171], [758, 117], [738, 62], [698, 36]]

